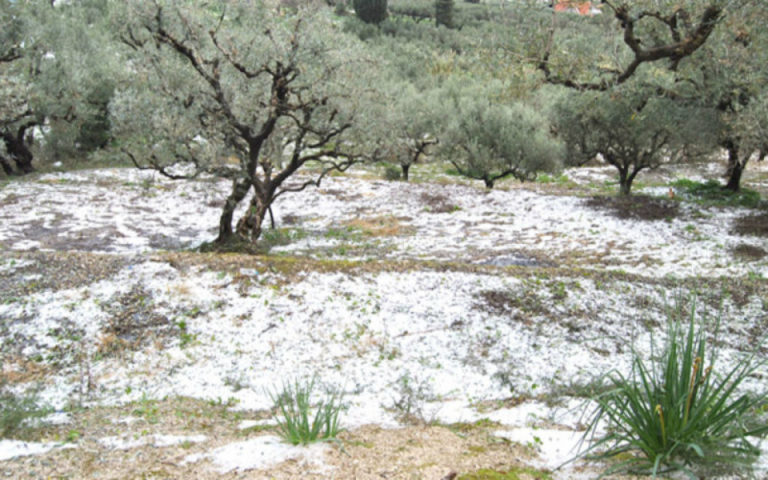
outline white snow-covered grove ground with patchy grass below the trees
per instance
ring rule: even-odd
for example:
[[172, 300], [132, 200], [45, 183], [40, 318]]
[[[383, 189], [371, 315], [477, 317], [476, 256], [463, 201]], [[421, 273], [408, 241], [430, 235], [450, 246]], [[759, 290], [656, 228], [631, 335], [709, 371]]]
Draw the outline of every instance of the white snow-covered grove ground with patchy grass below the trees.
[[[253, 420], [244, 425], [253, 433], [269, 424], [270, 392], [283, 380], [317, 376], [344, 390], [350, 432], [396, 431], [413, 420], [407, 400], [441, 425], [487, 419], [489, 438], [512, 442], [503, 444], [510, 464], [554, 469], [574, 453], [590, 382], [626, 370], [632, 345], [645, 351], [664, 330], [676, 296], [696, 292], [699, 311], [722, 314], [724, 364], [766, 328], [768, 263], [737, 252], [768, 242], [732, 232], [748, 210], [681, 202], [667, 219], [616, 218], [589, 206], [610, 175], [571, 170], [566, 186], [487, 192], [442, 175], [407, 184], [360, 169], [276, 204], [278, 230], [264, 239], [275, 246], [256, 257], [177, 252], [215, 235], [223, 184], [123, 169], [11, 182], [0, 190], [3, 373], [18, 388], [38, 385], [57, 410], [135, 407], [92, 444], [69, 438], [68, 450], [46, 454], [59, 467], [78, 448], [111, 457], [176, 446], [178, 475], [346, 478], [333, 446], [289, 474], [253, 456], [222, 460], [260, 448], [275, 462], [298, 455], [274, 453], [258, 432], [241, 445], [236, 422], [209, 425], [212, 436], [149, 421], [168, 399], [191, 398]], [[647, 191], [667, 196], [670, 180]], [[762, 374], [749, 386], [764, 385]], [[63, 428], [84, 430], [72, 416]], [[59, 445], [44, 432], [36, 440]], [[0, 468], [22, 475], [27, 458]], [[466, 466], [414, 468], [390, 473], [442, 478]], [[576, 463], [553, 475], [594, 471]]]

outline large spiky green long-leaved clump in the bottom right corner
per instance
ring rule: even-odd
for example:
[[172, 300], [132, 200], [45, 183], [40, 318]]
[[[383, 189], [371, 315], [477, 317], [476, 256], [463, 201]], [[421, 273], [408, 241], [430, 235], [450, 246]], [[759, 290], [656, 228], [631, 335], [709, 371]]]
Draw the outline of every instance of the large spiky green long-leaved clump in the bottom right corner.
[[[715, 370], [717, 328], [712, 345], [704, 323], [697, 325], [695, 307], [690, 323], [680, 325], [683, 310], [670, 318], [664, 350], [651, 341], [651, 360], [633, 351], [629, 376], [608, 374], [611, 387], [596, 396], [594, 415], [585, 439], [606, 422], [606, 434], [586, 451], [591, 459], [616, 460], [604, 474], [659, 474], [679, 471], [746, 469], [760, 454], [749, 437], [768, 432], [758, 411], [766, 394], [742, 393], [744, 380], [765, 360], [757, 353], [738, 362], [724, 375]], [[718, 323], [719, 324], [719, 323]]]

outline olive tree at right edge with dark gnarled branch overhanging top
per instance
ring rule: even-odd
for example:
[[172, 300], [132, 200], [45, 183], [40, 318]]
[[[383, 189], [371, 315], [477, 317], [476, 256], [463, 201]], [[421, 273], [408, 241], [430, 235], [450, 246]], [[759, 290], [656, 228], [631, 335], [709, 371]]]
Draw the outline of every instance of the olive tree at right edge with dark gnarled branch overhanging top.
[[716, 110], [723, 123], [712, 147], [727, 154], [725, 188], [738, 190], [748, 161], [764, 156], [743, 139], [755, 125], [745, 122], [755, 118], [751, 99], [767, 81], [765, 2], [602, 3], [607, 15], [599, 18], [553, 18], [538, 64], [545, 81], [577, 91], [639, 81], [678, 102]]

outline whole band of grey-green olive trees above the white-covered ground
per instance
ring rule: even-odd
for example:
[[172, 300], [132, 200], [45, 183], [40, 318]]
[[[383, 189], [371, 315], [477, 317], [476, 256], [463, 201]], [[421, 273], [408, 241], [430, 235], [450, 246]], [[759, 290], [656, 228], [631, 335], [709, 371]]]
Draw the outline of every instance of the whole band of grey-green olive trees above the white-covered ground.
[[220, 244], [362, 161], [407, 179], [436, 159], [488, 188], [598, 161], [628, 195], [644, 170], [725, 155], [738, 190], [768, 154], [764, 4], [601, 6], [0, 0], [0, 166], [227, 179]]

